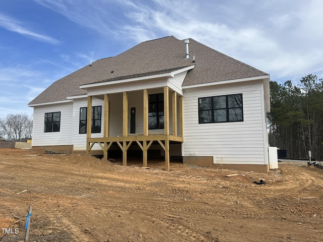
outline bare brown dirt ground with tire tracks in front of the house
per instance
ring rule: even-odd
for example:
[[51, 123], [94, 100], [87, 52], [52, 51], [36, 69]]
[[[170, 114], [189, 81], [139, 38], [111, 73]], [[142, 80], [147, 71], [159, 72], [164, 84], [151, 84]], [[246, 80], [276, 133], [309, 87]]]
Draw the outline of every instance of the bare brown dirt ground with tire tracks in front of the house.
[[306, 163], [121, 164], [0, 149], [0, 241], [24, 241], [30, 205], [28, 241], [323, 241], [323, 170]]

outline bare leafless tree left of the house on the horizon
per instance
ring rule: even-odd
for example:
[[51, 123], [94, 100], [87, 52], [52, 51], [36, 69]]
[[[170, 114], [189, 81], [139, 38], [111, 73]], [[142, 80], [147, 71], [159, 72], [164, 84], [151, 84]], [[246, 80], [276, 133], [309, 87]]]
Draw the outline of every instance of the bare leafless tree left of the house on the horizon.
[[10, 141], [26, 142], [32, 137], [32, 117], [27, 114], [8, 114], [0, 118], [2, 135]]

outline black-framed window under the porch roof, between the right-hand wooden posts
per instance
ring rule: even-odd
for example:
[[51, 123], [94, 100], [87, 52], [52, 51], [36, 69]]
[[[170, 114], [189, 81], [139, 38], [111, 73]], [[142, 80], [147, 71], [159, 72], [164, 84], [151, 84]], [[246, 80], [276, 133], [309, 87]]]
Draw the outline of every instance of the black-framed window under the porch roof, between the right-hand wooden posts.
[[148, 129], [164, 129], [164, 93], [148, 95]]

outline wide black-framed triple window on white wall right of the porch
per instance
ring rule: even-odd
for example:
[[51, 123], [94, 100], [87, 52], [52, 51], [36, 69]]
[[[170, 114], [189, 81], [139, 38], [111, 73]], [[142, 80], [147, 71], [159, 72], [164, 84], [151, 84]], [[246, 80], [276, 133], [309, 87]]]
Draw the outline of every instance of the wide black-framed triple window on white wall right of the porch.
[[242, 121], [242, 93], [198, 99], [199, 124]]

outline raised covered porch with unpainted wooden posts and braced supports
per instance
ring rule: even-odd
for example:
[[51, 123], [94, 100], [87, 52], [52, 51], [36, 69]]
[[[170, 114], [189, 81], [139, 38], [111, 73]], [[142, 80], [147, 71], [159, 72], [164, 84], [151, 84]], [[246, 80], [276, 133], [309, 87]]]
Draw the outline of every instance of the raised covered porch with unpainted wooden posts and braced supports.
[[[86, 153], [98, 144], [107, 159], [109, 149], [117, 144], [127, 165], [127, 151], [136, 144], [142, 151], [142, 165], [147, 166], [147, 151], [157, 143], [165, 151], [165, 167], [170, 170], [170, 142], [183, 142], [183, 96], [169, 86], [96, 94], [88, 92], [87, 120], [92, 119], [92, 97], [103, 100], [102, 137], [92, 137], [86, 127]], [[97, 146], [97, 145], [96, 145]]]

